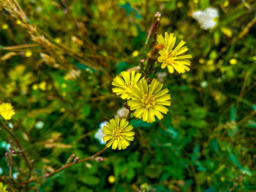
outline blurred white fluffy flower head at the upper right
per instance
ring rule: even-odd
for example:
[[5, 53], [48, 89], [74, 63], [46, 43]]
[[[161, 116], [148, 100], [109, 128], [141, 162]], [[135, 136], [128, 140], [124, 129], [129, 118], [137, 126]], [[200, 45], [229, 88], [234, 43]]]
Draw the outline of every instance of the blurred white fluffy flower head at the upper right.
[[208, 30], [209, 28], [214, 28], [216, 25], [215, 18], [219, 18], [219, 12], [216, 8], [207, 8], [204, 11], [198, 10], [192, 13], [192, 18], [197, 20], [200, 25], [200, 28]]

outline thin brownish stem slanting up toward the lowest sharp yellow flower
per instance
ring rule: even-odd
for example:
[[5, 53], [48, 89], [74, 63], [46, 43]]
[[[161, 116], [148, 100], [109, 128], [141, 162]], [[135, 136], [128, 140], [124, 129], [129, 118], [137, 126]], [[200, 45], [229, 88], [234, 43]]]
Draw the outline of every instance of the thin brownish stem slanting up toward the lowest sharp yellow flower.
[[31, 179], [31, 180], [26, 180], [26, 181], [20, 182], [20, 183], [17, 183], [17, 185], [23, 185], [23, 184], [26, 184], [26, 183], [31, 183], [33, 181], [41, 180], [42, 178], [48, 178], [48, 177], [52, 176], [53, 174], [56, 174], [58, 172], [61, 172], [64, 169], [67, 169], [69, 166], [73, 166], [75, 164], [80, 164], [80, 163], [82, 163], [84, 161], [89, 161], [90, 159], [94, 159], [95, 157], [97, 157], [97, 155], [100, 155], [106, 149], [107, 149], [107, 147], [105, 147], [104, 149], [100, 150], [98, 153], [95, 153], [94, 155], [91, 155], [88, 158], [83, 158], [83, 159], [81, 159], [79, 161], [74, 161], [74, 162], [72, 162], [70, 164], [65, 164], [64, 166], [61, 166], [59, 169], [56, 169], [55, 171], [51, 172], [50, 174], [45, 174], [43, 176], [36, 177], [36, 178]]

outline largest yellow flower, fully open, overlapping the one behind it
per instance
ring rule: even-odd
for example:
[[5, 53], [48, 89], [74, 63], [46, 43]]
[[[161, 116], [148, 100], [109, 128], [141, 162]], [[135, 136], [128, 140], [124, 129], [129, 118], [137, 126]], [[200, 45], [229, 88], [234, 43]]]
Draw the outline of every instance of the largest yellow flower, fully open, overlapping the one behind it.
[[149, 86], [144, 78], [137, 83], [132, 90], [134, 95], [128, 101], [130, 110], [135, 110], [133, 115], [136, 118], [142, 118], [148, 123], [154, 122], [155, 115], [159, 120], [163, 118], [162, 113], [168, 111], [165, 106], [170, 106], [170, 94], [167, 88], [161, 91], [162, 86], [156, 79]]

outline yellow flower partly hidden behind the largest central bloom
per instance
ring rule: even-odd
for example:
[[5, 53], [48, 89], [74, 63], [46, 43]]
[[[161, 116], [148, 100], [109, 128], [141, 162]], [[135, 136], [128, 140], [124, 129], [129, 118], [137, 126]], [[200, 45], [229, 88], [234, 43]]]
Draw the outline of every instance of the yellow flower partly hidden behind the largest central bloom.
[[121, 72], [121, 76], [124, 80], [116, 76], [112, 82], [112, 85], [116, 86], [116, 88], [112, 89], [113, 93], [121, 95], [121, 99], [130, 99], [132, 96], [132, 88], [135, 87], [138, 80], [140, 80], [140, 75], [140, 73], [135, 74], [135, 71], [132, 71], [131, 74], [129, 72]]

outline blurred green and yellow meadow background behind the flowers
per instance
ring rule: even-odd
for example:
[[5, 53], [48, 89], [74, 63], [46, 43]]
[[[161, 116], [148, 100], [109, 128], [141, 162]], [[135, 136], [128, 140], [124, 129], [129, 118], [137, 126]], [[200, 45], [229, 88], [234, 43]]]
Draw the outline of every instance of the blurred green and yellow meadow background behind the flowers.
[[[193, 56], [190, 72], [154, 74], [172, 106], [161, 121], [131, 120], [135, 141], [127, 150], [107, 150], [103, 162], [77, 164], [23, 191], [256, 191], [255, 1], [18, 2], [52, 45], [39, 45], [1, 8], [0, 101], [15, 108], [10, 123], [34, 159], [32, 177], [59, 168], [72, 153], [86, 158], [105, 147], [94, 134], [123, 106], [111, 80], [146, 58], [157, 11], [159, 34], [184, 39]], [[203, 30], [192, 12], [207, 7], [219, 18]], [[4, 130], [0, 139], [0, 176], [7, 177]], [[12, 176], [26, 180], [25, 161], [13, 158]]]

